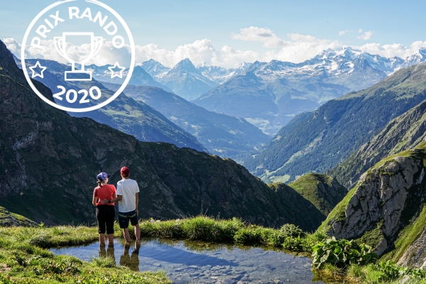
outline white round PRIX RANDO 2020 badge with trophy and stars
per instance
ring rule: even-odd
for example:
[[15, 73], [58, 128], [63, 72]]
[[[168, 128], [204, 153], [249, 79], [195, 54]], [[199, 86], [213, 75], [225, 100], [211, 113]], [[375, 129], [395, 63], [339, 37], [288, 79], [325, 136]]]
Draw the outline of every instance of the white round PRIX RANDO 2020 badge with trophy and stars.
[[[35, 16], [33, 21], [31, 21], [30, 26], [28, 26], [25, 35], [23, 36], [22, 47], [21, 47], [21, 64], [22, 64], [23, 74], [25, 75], [26, 80], [27, 80], [28, 84], [30, 85], [31, 89], [33, 89], [35, 94], [37, 94], [38, 97], [40, 97], [40, 99], [43, 99], [44, 102], [50, 104], [52, 107], [55, 107], [57, 109], [62, 109], [63, 111], [86, 112], [86, 111], [93, 111], [95, 109], [99, 109], [101, 107], [106, 106], [107, 104], [112, 102], [114, 99], [116, 99], [116, 97], [118, 97], [119, 94], [121, 94], [121, 92], [123, 92], [123, 90], [126, 88], [127, 84], [129, 84], [129, 81], [131, 79], [131, 75], [133, 73], [133, 68], [135, 66], [136, 50], [135, 50], [135, 44], [134, 44], [134, 41], [133, 41], [133, 36], [131, 35], [131, 31], [129, 29], [129, 26], [127, 26], [126, 22], [124, 21], [123, 18], [121, 18], [119, 13], [114, 11], [114, 9], [111, 9], [111, 7], [107, 6], [106, 4], [104, 4], [100, 1], [97, 1], [97, 0], [84, 0], [84, 1], [82, 0], [82, 1], [80, 1], [80, 2], [87, 2], [87, 3], [90, 3], [90, 4], [96, 4], [100, 7], [102, 7], [103, 9], [107, 10], [109, 13], [111, 13], [119, 21], [119, 23], [121, 23], [121, 26], [123, 26], [124, 30], [126, 31], [126, 35], [129, 38], [129, 44], [130, 44], [130, 50], [131, 50], [130, 66], [128, 68], [120, 67], [118, 62], [116, 62], [116, 65], [114, 67], [117, 67], [117, 66], [120, 67], [121, 72], [119, 72], [119, 75], [114, 75], [115, 73], [112, 72], [112, 70], [111, 70], [111, 78], [112, 77], [122, 78], [123, 77], [123, 70], [126, 69], [127, 70], [126, 71], [127, 72], [126, 78], [124, 79], [124, 82], [121, 85], [121, 87], [111, 97], [106, 99], [104, 102], [101, 102], [101, 103], [94, 105], [92, 107], [85, 107], [85, 108], [65, 107], [65, 106], [61, 106], [60, 104], [56, 104], [55, 102], [50, 101], [50, 99], [47, 99], [35, 87], [35, 85], [31, 81], [31, 77], [28, 75], [28, 69], [29, 69], [30, 72], [32, 72], [33, 78], [40, 77], [40, 78], [43, 79], [43, 72], [46, 70], [46, 67], [41, 66], [40, 62], [37, 62], [37, 64], [35, 64], [32, 67], [27, 67], [27, 65], [26, 65], [26, 48], [29, 47], [27, 45], [28, 36], [31, 33], [31, 31], [33, 31], [33, 27], [34, 27], [35, 23], [37, 23], [42, 16], [45, 16], [45, 13], [48, 13], [51, 9], [55, 8], [56, 6], [60, 6], [62, 4], [67, 4], [69, 2], [74, 2], [74, 1], [77, 1], [77, 0], [63, 0], [63, 1], [55, 2], [54, 4], [51, 4], [50, 6], [43, 9], [43, 11], [41, 11], [40, 13], [38, 13], [37, 16]], [[71, 15], [71, 11], [70, 11], [70, 15]], [[53, 29], [55, 26], [58, 26], [58, 23], [65, 21], [65, 19], [60, 18], [58, 16], [58, 11], [56, 12], [55, 16], [50, 14], [49, 17], [50, 17], [50, 19], [48, 19], [48, 18], [45, 19], [45, 23], [48, 26], [44, 26], [44, 28], [45, 28], [44, 35], [45, 35], [46, 29], [48, 27]], [[53, 23], [50, 22], [50, 21], [52, 21], [52, 18], [54, 19], [53, 23], [55, 24], [55, 26], [53, 26]], [[95, 21], [96, 21], [96, 17], [95, 17]], [[102, 21], [102, 18], [99, 19], [99, 23], [101, 23], [101, 21]], [[107, 26], [104, 27], [105, 31], [107, 31], [106, 28], [107, 28]], [[39, 27], [36, 32], [39, 33], [40, 35], [42, 35], [43, 30], [40, 30], [40, 27]], [[108, 33], [108, 31], [107, 31], [107, 33]], [[111, 33], [108, 33], [108, 34], [111, 35]], [[66, 40], [66, 38], [71, 37], [71, 36], [79, 36], [79, 35], [80, 36], [86, 36], [86, 37], [89, 36], [89, 38], [90, 38], [89, 42], [90, 42], [91, 47], [90, 47], [89, 55], [87, 55], [86, 58], [81, 60], [81, 62], [75, 62], [75, 60], [72, 60], [72, 58], [70, 58], [70, 56], [67, 54], [67, 50], [66, 50], [67, 40]], [[43, 38], [45, 38], [45, 36]], [[114, 38], [117, 38], [117, 37], [114, 37]], [[121, 38], [121, 43], [117, 44], [116, 41], [114, 40], [114, 38], [112, 40], [112, 45], [114, 46], [114, 48], [122, 48], [124, 46], [124, 39], [121, 36], [119, 36], [119, 38]], [[38, 40], [39, 40], [39, 44], [40, 44], [40, 39], [38, 39]], [[62, 33], [62, 36], [55, 36], [53, 38], [53, 42], [55, 44], [55, 48], [58, 51], [58, 53], [62, 56], [62, 58], [64, 58], [68, 63], [70, 63], [71, 68], [72, 68], [71, 71], [65, 72], [65, 74], [64, 74], [65, 82], [92, 81], [92, 70], [86, 70], [85, 65], [90, 59], [92, 59], [95, 55], [97, 55], [97, 53], [99, 53], [99, 50], [101, 50], [101, 48], [102, 48], [103, 38], [101, 36], [95, 36], [94, 33], [87, 32], [87, 31], [84, 31], [84, 32], [65, 31], [65, 32]], [[80, 65], [80, 70], [76, 69], [76, 63], [78, 63]], [[34, 70], [35, 68], [41, 69], [41, 71], [35, 72], [35, 70]], [[124, 68], [124, 69], [122, 69], [122, 68]], [[58, 93], [58, 94], [54, 94], [53, 97], [62, 101], [62, 97], [60, 97], [60, 95], [64, 94], [66, 92], [66, 90], [65, 90], [65, 87], [62, 87], [62, 86], [58, 86], [58, 88], [62, 89], [62, 92]], [[97, 92], [97, 95], [94, 94], [94, 91]], [[89, 92], [90, 92], [90, 97], [92, 99], [96, 100], [96, 99], [99, 99], [101, 97], [100, 90], [97, 87], [92, 87], [89, 90]], [[83, 94], [85, 96], [84, 98], [86, 98], [88, 92], [87, 92], [87, 90], [81, 90], [80, 92], [78, 92], [78, 94]], [[72, 96], [72, 99], [70, 99], [71, 96]], [[80, 100], [80, 102], [89, 102], [88, 100], [84, 100], [84, 98], [82, 100]], [[74, 103], [74, 102], [77, 101], [77, 92], [75, 90], [70, 89], [67, 92], [67, 101], [70, 102], [70, 103]]]

